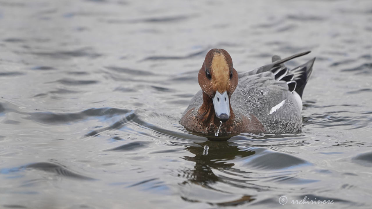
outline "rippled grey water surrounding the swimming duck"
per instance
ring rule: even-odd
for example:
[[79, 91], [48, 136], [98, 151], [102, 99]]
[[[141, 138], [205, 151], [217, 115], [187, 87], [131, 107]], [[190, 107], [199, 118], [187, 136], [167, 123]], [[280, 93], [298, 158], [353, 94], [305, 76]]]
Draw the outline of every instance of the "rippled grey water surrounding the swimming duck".
[[[369, 208], [371, 37], [369, 0], [0, 0], [0, 208]], [[184, 129], [211, 48], [311, 50], [302, 133]]]

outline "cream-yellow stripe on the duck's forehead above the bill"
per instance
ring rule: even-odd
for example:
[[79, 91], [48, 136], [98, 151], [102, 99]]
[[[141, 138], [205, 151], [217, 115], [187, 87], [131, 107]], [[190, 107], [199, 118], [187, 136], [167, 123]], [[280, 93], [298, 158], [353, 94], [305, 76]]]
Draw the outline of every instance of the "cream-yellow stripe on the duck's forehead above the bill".
[[229, 69], [225, 56], [222, 54], [215, 54], [212, 59], [211, 68], [213, 69], [216, 84], [225, 86], [229, 79]]

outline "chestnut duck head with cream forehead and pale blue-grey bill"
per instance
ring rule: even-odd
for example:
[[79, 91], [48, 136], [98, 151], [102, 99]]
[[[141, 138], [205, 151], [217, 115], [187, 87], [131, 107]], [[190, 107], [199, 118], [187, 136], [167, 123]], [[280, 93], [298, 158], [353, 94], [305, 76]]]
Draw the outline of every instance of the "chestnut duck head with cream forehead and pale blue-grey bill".
[[230, 97], [238, 85], [238, 73], [232, 67], [230, 54], [224, 49], [211, 49], [198, 74], [203, 93], [210, 97], [215, 114], [226, 122], [230, 118]]

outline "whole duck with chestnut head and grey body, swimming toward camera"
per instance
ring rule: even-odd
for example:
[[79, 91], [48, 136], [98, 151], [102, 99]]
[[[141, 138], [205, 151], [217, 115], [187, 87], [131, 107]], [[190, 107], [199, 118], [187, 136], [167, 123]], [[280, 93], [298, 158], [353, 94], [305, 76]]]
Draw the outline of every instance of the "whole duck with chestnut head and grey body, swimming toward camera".
[[198, 73], [201, 90], [180, 124], [192, 132], [217, 135], [301, 132], [302, 93], [315, 58], [293, 69], [284, 63], [309, 53], [284, 59], [274, 55], [269, 64], [237, 73], [226, 50], [211, 49]]

